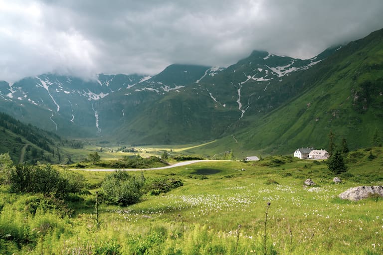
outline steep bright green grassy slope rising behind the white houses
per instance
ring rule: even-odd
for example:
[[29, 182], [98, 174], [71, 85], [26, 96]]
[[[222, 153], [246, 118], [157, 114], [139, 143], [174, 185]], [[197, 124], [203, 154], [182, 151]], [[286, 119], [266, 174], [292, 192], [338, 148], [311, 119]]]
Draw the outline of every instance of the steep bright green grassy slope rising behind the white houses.
[[383, 29], [349, 43], [307, 71], [292, 74], [301, 93], [262, 118], [244, 119], [241, 130], [205, 150], [276, 154], [298, 147], [327, 148], [330, 130], [351, 149], [372, 145], [383, 129]]

